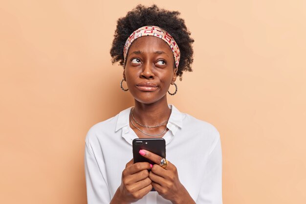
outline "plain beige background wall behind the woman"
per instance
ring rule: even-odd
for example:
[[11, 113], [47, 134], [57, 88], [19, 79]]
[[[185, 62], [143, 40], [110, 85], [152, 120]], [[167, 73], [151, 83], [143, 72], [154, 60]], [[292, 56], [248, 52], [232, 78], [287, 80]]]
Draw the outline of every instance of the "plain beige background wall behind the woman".
[[[133, 105], [109, 49], [138, 2], [1, 0], [1, 204], [86, 203], [87, 130]], [[143, 2], [179, 10], [196, 41], [168, 98], [218, 128], [223, 203], [304, 204], [306, 1]]]

